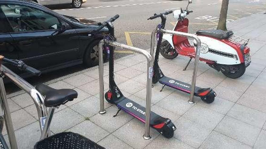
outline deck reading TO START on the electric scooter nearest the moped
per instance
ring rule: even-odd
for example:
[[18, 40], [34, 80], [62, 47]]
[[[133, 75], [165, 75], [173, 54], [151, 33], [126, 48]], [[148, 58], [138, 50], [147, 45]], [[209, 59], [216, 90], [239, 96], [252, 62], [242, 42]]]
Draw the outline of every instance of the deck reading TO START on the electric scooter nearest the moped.
[[[186, 92], [188, 94], [190, 94], [191, 92], [191, 84], [188, 84], [188, 83], [185, 83], [185, 82], [182, 82], [182, 81], [178, 81], [176, 79], [172, 79], [172, 78], [169, 78], [167, 76], [164, 76], [162, 77], [161, 79], [159, 79], [159, 82], [161, 84], [164, 84], [166, 86], [169, 86], [171, 88], [175, 88], [177, 90], [180, 90], [180, 91], [183, 91], [183, 92]], [[201, 89], [200, 87], [195, 87], [195, 93]], [[195, 94], [194, 93], [194, 94]]]

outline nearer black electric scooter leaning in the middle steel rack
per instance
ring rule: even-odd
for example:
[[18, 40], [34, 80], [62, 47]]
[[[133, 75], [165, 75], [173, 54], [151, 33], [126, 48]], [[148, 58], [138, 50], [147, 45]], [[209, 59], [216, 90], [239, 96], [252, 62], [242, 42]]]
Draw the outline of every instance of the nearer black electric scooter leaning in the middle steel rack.
[[[114, 26], [112, 25], [112, 22], [117, 19], [119, 15], [116, 15], [115, 17], [111, 18], [110, 20], [99, 23], [101, 25], [96, 31], [99, 31], [104, 26], [106, 26], [109, 29], [108, 35], [105, 35], [105, 40], [112, 40], [115, 41], [114, 36]], [[118, 86], [115, 83], [114, 80], [114, 50], [115, 48], [110, 46], [105, 46], [105, 49], [109, 49], [109, 91], [105, 93], [105, 99], [109, 103], [115, 104], [118, 107], [117, 113], [114, 115], [117, 116], [120, 110], [125, 111], [126, 113], [130, 114], [131, 116], [134, 116], [141, 122], [145, 123], [145, 116], [146, 116], [146, 109], [145, 107], [141, 106], [140, 104], [126, 98]], [[161, 133], [165, 138], [172, 138], [174, 135], [174, 131], [176, 130], [176, 127], [171, 122], [170, 119], [164, 118], [154, 112], [151, 111], [150, 116], [150, 127], [156, 129], [159, 133]]]

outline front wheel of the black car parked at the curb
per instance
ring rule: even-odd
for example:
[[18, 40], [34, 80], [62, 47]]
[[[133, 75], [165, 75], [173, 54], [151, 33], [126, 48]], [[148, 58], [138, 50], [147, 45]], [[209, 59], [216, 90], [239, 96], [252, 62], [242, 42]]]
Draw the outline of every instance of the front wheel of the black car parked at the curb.
[[[99, 64], [98, 44], [99, 40], [92, 42], [85, 51], [83, 63], [88, 67], [96, 66]], [[103, 51], [103, 61], [107, 61], [107, 53], [105, 50]]]

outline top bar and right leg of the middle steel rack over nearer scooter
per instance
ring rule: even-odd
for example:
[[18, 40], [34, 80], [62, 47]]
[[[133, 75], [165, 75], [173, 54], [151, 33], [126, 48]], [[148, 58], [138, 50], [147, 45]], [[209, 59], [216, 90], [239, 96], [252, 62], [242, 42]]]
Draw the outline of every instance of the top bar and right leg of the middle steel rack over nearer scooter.
[[146, 50], [131, 47], [125, 44], [121, 44], [118, 42], [109, 42], [111, 46], [122, 47], [123, 49], [128, 49], [130, 51], [134, 51], [136, 53], [142, 54], [146, 57], [148, 61], [148, 69], [147, 69], [147, 84], [146, 84], [146, 117], [145, 117], [145, 132], [143, 138], [148, 140], [151, 138], [150, 135], [150, 119], [151, 119], [151, 83], [152, 83], [152, 75], [153, 75], [153, 59], [151, 54], [149, 54]]

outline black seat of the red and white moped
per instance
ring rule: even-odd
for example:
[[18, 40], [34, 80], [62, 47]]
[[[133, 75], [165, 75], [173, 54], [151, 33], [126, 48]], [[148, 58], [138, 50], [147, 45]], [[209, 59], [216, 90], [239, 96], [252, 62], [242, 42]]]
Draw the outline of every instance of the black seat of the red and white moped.
[[228, 39], [234, 33], [232, 30], [224, 31], [224, 30], [217, 30], [217, 29], [203, 29], [203, 30], [197, 31], [196, 34], [211, 36], [217, 39]]

